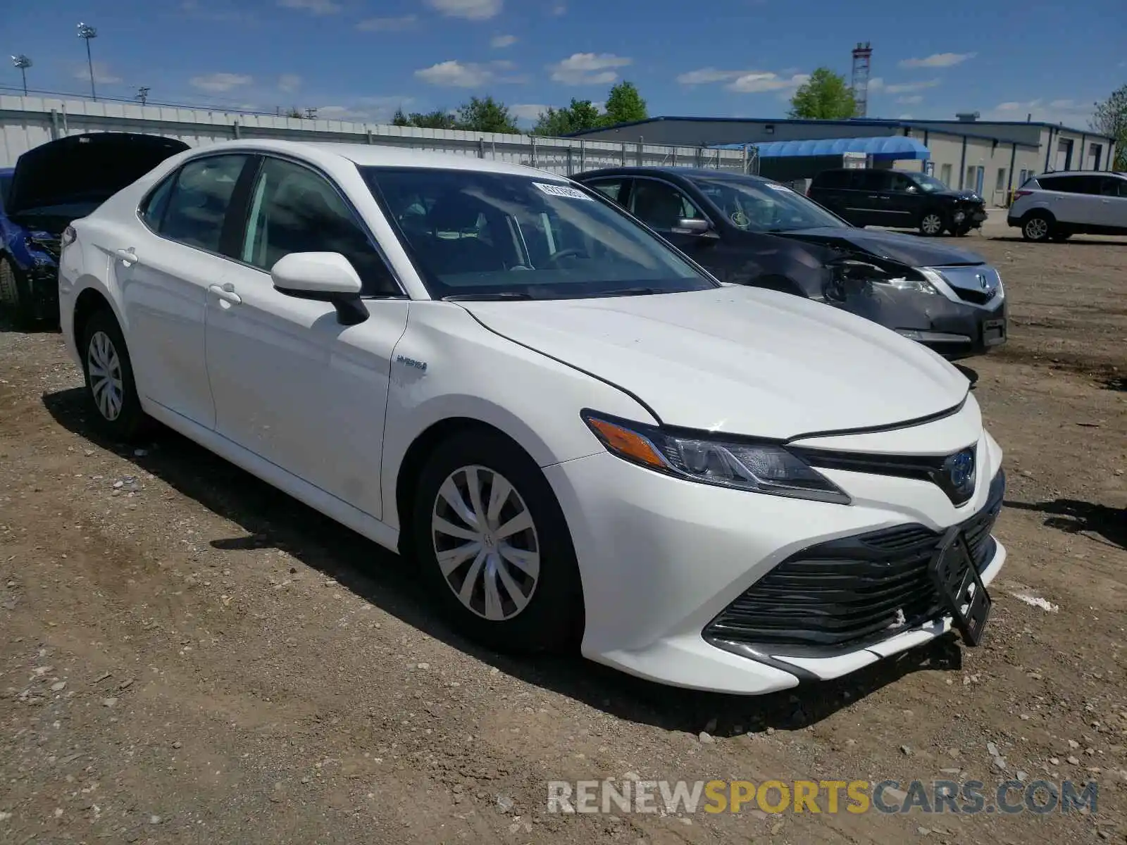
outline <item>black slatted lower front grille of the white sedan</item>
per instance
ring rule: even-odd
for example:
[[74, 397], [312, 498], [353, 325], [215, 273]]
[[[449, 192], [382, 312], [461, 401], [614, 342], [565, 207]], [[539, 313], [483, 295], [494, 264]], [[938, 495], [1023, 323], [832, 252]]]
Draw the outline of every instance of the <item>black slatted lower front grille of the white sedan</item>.
[[[991, 530], [1005, 474], [961, 528], [979, 571], [994, 557]], [[928, 564], [941, 534], [923, 525], [841, 537], [792, 554], [728, 605], [703, 631], [772, 655], [826, 657], [887, 639], [942, 615]]]

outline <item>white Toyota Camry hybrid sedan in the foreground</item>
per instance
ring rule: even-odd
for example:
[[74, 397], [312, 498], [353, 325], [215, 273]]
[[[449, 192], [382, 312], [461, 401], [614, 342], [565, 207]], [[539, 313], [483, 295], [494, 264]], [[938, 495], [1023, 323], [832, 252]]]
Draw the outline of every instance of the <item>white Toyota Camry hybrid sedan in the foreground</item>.
[[982, 638], [1004, 475], [967, 380], [564, 177], [232, 141], [63, 244], [109, 435], [159, 420], [402, 552], [495, 648], [766, 693]]

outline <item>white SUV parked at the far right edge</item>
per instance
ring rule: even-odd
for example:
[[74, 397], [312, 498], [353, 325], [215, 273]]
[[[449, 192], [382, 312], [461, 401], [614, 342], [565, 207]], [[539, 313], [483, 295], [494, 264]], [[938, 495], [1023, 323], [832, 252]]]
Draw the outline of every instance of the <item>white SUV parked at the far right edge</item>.
[[1027, 241], [1072, 234], [1127, 234], [1127, 174], [1042, 174], [1014, 193], [1006, 223]]

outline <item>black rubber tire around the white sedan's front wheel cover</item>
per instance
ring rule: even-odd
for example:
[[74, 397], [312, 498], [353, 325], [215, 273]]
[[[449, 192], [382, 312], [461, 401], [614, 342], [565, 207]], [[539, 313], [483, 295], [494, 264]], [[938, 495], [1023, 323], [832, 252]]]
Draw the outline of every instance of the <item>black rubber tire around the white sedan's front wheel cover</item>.
[[[451, 516], [452, 509], [446, 505], [446, 499], [440, 496], [440, 490], [452, 475], [468, 481], [459, 472], [463, 468], [474, 466], [485, 468], [488, 473], [499, 473], [503, 480], [512, 484], [517, 498], [511, 495], [506, 497], [506, 505], [499, 512], [497, 522], [506, 522], [512, 518], [512, 514], [520, 512], [520, 506], [524, 506], [531, 516], [531, 536], [535, 542], [529, 542], [526, 532], [513, 535], [513, 542], [521, 543], [522, 549], [534, 546], [539, 553], [539, 572], [531, 586], [526, 572], [508, 559], [495, 555], [497, 569], [504, 567], [508, 578], [516, 579], [522, 589], [527, 586], [527, 603], [523, 610], [513, 611], [516, 605], [512, 602], [512, 592], [504, 587], [499, 572], [494, 577], [498, 590], [504, 589], [505, 596], [509, 597], [506, 608], [511, 615], [504, 619], [490, 620], [482, 615], [488, 610], [483, 585], [490, 571], [485, 563], [478, 569], [479, 573], [485, 573], [480, 579], [482, 588], [479, 592], [476, 585], [470, 590], [470, 606], [463, 604], [454, 592], [464, 586], [473, 571], [477, 555], [458, 563], [451, 570], [449, 580], [438, 564], [437, 546], [445, 546], [443, 551], [449, 551], [459, 543], [472, 542], [469, 539], [454, 540], [433, 527], [432, 519], [436, 513], [458, 528], [470, 526], [467, 519]], [[495, 475], [490, 474], [486, 479], [485, 474], [479, 473], [479, 478], [482, 479], [480, 483], [488, 481], [490, 490], [492, 489]], [[461, 496], [463, 502], [470, 501], [464, 492]], [[485, 493], [482, 505], [488, 507]], [[506, 437], [489, 430], [470, 430], [441, 443], [423, 468], [410, 523], [415, 554], [423, 577], [434, 598], [459, 631], [495, 650], [516, 653], [567, 651], [578, 644], [584, 623], [583, 587], [571, 534], [556, 495], [540, 468]], [[492, 528], [495, 531], [496, 526]], [[498, 541], [499, 537], [487, 535], [487, 542]], [[474, 578], [473, 581], [477, 582], [478, 579]]]

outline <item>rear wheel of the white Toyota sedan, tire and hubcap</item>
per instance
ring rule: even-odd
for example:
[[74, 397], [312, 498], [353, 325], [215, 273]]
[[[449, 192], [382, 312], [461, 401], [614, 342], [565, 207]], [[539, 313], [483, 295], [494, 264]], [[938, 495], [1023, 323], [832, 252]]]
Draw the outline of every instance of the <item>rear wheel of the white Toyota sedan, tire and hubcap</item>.
[[135, 439], [148, 417], [141, 409], [125, 338], [108, 309], [95, 311], [87, 320], [79, 350], [94, 425], [115, 441]]

